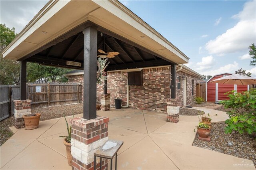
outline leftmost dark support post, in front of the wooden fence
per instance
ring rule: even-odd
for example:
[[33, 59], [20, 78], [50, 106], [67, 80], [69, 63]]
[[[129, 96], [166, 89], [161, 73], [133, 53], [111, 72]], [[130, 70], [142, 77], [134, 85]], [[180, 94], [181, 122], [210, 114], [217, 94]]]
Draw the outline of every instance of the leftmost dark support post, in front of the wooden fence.
[[20, 100], [26, 100], [27, 98], [27, 61], [20, 61]]

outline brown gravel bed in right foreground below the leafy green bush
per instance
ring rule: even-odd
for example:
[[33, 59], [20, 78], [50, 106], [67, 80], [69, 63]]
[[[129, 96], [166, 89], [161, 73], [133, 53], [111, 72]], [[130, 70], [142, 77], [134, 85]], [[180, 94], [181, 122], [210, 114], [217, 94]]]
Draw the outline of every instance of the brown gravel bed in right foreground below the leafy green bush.
[[225, 123], [212, 123], [211, 141], [199, 140], [196, 134], [193, 146], [252, 160], [256, 167], [256, 134], [239, 134], [235, 131], [225, 134], [225, 127]]

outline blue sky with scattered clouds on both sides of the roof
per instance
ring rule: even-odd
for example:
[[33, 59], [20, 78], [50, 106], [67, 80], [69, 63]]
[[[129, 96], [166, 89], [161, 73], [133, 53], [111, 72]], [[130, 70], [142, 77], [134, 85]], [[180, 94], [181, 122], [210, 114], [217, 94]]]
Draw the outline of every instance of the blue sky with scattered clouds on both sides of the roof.
[[[190, 59], [200, 74], [234, 73], [256, 77], [248, 46], [256, 44], [256, 1], [121, 0]], [[0, 1], [0, 23], [20, 32], [47, 1]]]

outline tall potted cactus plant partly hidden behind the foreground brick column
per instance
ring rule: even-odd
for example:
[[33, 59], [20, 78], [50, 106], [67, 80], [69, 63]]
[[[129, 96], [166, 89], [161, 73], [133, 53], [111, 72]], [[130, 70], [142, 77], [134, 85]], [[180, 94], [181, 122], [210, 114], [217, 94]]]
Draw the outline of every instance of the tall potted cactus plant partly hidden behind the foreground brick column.
[[[66, 127], [67, 127], [67, 130], [68, 130], [68, 136], [60, 136], [60, 137], [64, 138], [63, 143], [66, 146], [68, 165], [72, 166], [72, 155], [71, 155], [71, 129], [72, 129], [72, 127], [68, 126], [68, 121], [67, 121], [67, 119], [65, 117], [65, 114], [63, 114], [63, 115], [64, 115], [64, 119], [66, 121]], [[73, 118], [74, 118], [74, 115], [73, 115]]]

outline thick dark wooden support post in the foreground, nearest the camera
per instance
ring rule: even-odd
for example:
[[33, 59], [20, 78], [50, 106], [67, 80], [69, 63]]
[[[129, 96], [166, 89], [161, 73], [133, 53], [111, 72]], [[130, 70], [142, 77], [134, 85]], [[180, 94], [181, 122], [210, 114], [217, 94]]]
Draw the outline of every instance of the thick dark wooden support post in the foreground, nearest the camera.
[[84, 29], [84, 119], [96, 118], [97, 29]]

